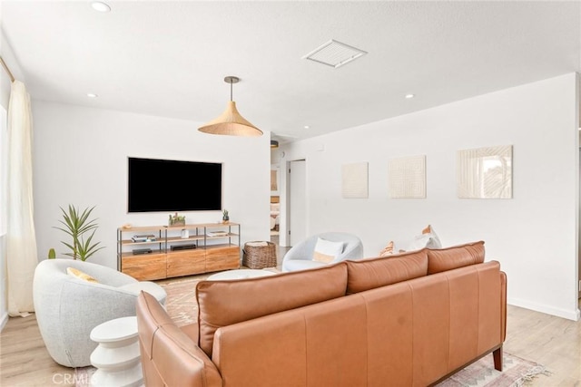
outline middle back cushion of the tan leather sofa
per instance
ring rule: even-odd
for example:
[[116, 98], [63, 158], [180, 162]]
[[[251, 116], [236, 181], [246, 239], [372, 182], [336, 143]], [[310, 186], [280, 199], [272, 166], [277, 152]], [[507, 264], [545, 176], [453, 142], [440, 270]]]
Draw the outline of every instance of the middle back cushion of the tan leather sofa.
[[428, 275], [426, 249], [360, 261], [347, 261], [347, 293], [359, 293]]

